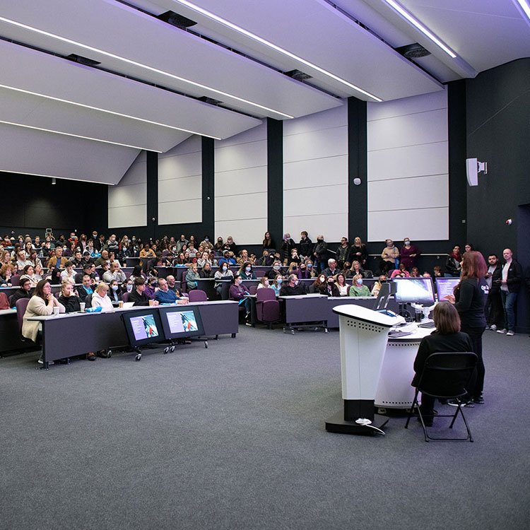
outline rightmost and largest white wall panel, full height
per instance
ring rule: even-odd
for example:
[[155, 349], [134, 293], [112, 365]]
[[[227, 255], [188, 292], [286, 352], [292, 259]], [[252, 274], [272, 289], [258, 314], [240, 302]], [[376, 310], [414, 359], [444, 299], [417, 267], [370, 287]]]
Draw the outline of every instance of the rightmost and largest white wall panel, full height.
[[368, 103], [367, 121], [367, 240], [447, 240], [447, 92]]

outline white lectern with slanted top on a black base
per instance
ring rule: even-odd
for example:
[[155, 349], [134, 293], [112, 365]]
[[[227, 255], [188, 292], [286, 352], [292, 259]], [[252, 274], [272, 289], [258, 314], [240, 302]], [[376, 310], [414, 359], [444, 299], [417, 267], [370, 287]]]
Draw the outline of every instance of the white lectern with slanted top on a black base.
[[351, 435], [384, 435], [388, 418], [375, 414], [375, 393], [388, 332], [401, 317], [358, 305], [338, 305], [344, 411], [326, 421], [326, 430]]

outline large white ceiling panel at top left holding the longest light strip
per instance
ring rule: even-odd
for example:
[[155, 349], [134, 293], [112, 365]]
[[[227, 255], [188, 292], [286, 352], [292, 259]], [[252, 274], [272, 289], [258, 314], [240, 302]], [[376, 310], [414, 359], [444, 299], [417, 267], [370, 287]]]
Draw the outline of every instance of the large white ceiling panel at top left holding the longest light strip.
[[5, 18], [41, 32], [0, 21], [0, 35], [90, 57], [112, 71], [197, 97], [208, 95], [249, 114], [283, 119], [340, 105], [319, 90], [117, 2], [4, 0], [0, 6]]

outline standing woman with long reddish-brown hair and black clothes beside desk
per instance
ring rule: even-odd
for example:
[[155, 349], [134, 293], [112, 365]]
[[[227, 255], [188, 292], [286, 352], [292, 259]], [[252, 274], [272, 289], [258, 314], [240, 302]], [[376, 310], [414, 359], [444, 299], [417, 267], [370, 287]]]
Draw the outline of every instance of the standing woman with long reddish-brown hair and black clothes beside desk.
[[460, 283], [454, 288], [454, 295], [447, 295], [447, 300], [454, 303], [460, 315], [461, 331], [468, 334], [473, 344], [471, 350], [478, 357], [476, 365], [476, 382], [469, 389], [467, 406], [473, 402], [483, 404], [482, 391], [484, 387], [485, 367], [482, 358], [482, 334], [486, 321], [484, 306], [488, 298], [488, 283], [485, 274], [488, 271], [484, 258], [480, 252], [470, 250], [462, 257], [462, 276]]

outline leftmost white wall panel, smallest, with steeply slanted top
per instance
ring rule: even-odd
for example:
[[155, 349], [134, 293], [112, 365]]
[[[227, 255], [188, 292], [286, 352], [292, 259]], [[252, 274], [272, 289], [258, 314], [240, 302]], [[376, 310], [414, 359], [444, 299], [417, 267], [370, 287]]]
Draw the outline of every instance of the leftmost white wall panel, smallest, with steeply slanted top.
[[108, 192], [109, 228], [147, 226], [147, 161], [141, 151], [129, 170]]

